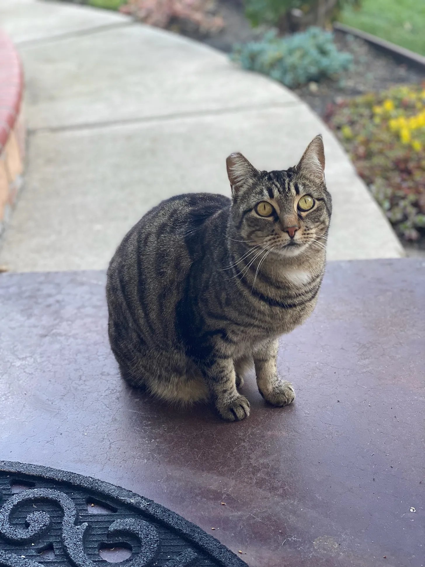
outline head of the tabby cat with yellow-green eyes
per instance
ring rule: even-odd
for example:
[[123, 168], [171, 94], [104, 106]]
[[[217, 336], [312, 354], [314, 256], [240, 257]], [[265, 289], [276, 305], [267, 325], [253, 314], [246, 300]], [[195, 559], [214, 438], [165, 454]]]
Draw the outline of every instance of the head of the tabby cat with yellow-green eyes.
[[231, 154], [227, 173], [233, 196], [233, 238], [286, 256], [296, 256], [309, 246], [323, 248], [332, 211], [324, 171], [321, 136], [288, 170], [258, 171], [242, 154]]

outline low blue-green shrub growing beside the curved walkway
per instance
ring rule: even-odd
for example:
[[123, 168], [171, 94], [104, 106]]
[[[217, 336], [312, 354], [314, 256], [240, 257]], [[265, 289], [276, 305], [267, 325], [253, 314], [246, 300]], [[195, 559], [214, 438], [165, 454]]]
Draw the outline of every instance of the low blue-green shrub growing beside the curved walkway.
[[313, 26], [286, 37], [267, 32], [261, 41], [236, 45], [231, 57], [244, 69], [269, 75], [290, 88], [336, 78], [352, 65], [351, 54], [338, 51], [333, 34]]

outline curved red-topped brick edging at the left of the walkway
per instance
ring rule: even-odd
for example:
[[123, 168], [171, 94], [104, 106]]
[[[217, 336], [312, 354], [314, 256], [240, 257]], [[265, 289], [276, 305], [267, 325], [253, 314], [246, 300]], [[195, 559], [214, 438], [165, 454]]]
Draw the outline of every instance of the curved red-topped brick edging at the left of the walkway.
[[18, 53], [0, 29], [0, 235], [22, 180], [25, 150], [21, 111], [23, 85]]

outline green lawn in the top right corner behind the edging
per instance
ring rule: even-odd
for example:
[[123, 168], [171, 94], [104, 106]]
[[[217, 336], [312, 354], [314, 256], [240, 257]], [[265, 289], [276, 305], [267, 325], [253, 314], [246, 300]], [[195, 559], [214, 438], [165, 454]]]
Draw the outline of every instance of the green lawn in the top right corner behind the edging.
[[360, 9], [347, 6], [338, 19], [425, 55], [425, 0], [362, 0]]

